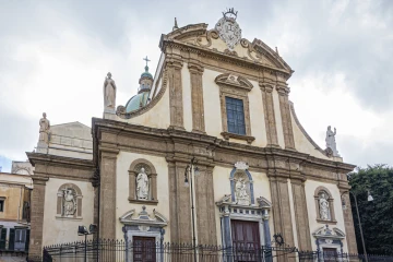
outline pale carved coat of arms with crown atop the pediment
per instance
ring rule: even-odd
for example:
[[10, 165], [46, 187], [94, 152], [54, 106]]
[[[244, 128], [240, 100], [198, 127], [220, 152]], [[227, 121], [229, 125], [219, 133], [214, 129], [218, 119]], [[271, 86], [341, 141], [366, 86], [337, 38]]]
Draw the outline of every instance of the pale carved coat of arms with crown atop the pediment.
[[241, 29], [236, 22], [237, 12], [234, 9], [229, 9], [223, 12], [223, 17], [217, 22], [215, 29], [218, 32], [219, 38], [222, 38], [228, 46], [229, 50], [234, 50], [235, 46], [241, 39]]

